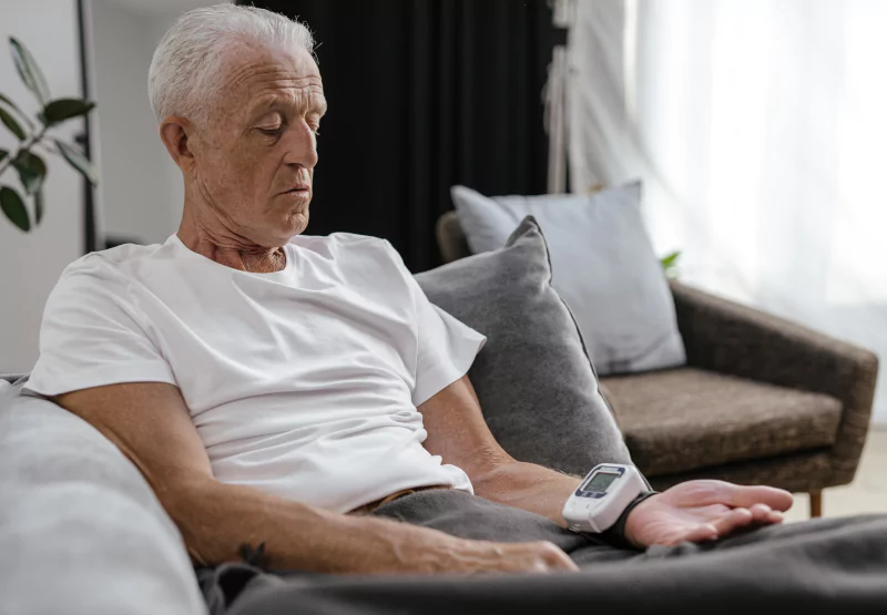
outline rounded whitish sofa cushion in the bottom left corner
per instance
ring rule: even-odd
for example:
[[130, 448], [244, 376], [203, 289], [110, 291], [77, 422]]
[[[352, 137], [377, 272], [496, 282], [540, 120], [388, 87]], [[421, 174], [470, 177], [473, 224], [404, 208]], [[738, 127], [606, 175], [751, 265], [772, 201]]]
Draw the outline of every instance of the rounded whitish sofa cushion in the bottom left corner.
[[3, 613], [206, 613], [182, 536], [92, 426], [0, 380]]

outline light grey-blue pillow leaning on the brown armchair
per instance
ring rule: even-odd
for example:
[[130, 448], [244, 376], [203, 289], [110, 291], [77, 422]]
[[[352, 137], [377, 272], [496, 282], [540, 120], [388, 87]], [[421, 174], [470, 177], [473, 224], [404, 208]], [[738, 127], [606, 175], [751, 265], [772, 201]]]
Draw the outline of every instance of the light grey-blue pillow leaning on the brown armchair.
[[504, 246], [532, 215], [551, 253], [552, 286], [570, 307], [599, 375], [686, 361], [669, 283], [641, 216], [641, 184], [584, 195], [486, 197], [453, 186], [473, 253]]

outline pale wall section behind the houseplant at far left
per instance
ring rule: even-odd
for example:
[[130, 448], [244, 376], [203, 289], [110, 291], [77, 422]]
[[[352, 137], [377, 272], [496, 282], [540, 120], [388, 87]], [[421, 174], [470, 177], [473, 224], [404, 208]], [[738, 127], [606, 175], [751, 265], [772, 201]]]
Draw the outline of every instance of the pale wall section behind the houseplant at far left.
[[[28, 112], [38, 109], [21, 84], [7, 39], [20, 39], [43, 70], [54, 98], [80, 96], [80, 61], [74, 0], [0, 2], [0, 92]], [[71, 142], [82, 122], [55, 129]], [[0, 147], [16, 140], [0, 125]], [[38, 334], [43, 304], [62, 269], [83, 250], [82, 182], [80, 175], [54, 156], [48, 158], [44, 187], [45, 215], [31, 233], [21, 233], [0, 215], [0, 372], [29, 370], [38, 355]], [[0, 183], [18, 187], [14, 172]]]

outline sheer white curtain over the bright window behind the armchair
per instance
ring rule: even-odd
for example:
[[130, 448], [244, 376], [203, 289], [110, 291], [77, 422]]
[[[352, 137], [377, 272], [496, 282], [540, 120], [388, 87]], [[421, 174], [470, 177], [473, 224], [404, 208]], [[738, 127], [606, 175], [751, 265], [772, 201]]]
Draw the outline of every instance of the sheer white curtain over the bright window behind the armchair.
[[579, 0], [571, 189], [643, 177], [684, 280], [887, 361], [885, 59], [883, 0]]

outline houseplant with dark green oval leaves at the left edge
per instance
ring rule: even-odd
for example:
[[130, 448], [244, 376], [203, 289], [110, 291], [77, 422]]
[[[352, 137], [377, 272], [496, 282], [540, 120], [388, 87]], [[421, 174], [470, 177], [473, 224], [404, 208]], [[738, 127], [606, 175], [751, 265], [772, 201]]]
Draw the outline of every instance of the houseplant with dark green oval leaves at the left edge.
[[[12, 37], [9, 47], [19, 76], [37, 96], [41, 107], [35, 117], [29, 117], [0, 92], [0, 123], [18, 140], [18, 147], [12, 151], [0, 148], [0, 209], [12, 224], [27, 233], [43, 218], [42, 188], [48, 173], [43, 154], [61, 156], [92, 185], [98, 184], [95, 170], [80, 150], [48, 134], [53, 126], [86, 115], [95, 103], [81, 99], [52, 99], [47, 79], [33, 55]], [[13, 170], [18, 173], [21, 191], [2, 183], [7, 172]]]

